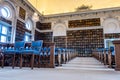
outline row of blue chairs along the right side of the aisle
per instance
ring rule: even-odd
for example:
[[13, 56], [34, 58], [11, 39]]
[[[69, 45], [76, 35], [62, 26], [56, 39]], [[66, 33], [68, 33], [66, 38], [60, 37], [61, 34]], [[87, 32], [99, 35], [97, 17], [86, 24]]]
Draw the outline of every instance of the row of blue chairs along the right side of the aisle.
[[113, 46], [110, 48], [98, 48], [93, 51], [93, 56], [110, 68], [115, 65], [115, 51]]

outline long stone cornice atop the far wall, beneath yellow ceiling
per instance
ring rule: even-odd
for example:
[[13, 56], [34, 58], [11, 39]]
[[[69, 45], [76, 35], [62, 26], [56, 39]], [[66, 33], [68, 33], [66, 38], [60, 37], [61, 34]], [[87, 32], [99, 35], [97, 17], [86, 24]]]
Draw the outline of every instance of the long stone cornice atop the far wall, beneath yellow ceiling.
[[107, 9], [99, 9], [99, 10], [91, 10], [91, 11], [84, 11], [84, 12], [70, 12], [70, 13], [63, 13], [63, 14], [55, 14], [55, 15], [46, 15], [42, 22], [51, 22], [56, 21], [57, 19], [61, 20], [72, 20], [74, 18], [86, 18], [86, 17], [103, 17], [106, 15], [110, 15], [112, 13], [120, 12], [120, 7], [116, 8], [107, 8]]

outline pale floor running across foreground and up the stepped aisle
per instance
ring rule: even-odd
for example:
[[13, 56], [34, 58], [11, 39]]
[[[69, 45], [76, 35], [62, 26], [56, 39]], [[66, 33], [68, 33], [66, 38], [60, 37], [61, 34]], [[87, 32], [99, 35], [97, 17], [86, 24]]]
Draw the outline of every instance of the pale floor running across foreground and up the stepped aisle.
[[0, 80], [120, 80], [120, 72], [92, 57], [77, 57], [54, 69], [0, 68]]

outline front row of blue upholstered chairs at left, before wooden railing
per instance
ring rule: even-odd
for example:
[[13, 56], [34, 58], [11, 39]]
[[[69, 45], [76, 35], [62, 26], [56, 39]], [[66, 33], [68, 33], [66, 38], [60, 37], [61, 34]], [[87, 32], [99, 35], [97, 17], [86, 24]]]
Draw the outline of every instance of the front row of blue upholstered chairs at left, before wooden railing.
[[[22, 68], [23, 65], [23, 55], [32, 55], [31, 59], [31, 68], [33, 69], [34, 66], [34, 56], [35, 55], [40, 55], [42, 50], [42, 45], [43, 45], [43, 40], [39, 41], [32, 41], [31, 46], [25, 47], [26, 43], [24, 41], [19, 41], [15, 42], [13, 46], [7, 45], [4, 47], [1, 47], [1, 52], [3, 55], [12, 55], [12, 67], [14, 68], [15, 64], [15, 56], [20, 55], [20, 68]], [[2, 58], [2, 67], [4, 66], [4, 56]], [[39, 62], [39, 61], [38, 61]]]

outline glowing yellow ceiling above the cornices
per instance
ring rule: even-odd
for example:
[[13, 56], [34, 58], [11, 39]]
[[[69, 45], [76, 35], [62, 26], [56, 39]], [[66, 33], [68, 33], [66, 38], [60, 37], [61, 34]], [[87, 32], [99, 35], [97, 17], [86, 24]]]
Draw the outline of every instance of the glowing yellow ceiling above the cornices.
[[75, 11], [78, 6], [92, 5], [92, 9], [120, 7], [120, 0], [28, 0], [44, 14], [59, 14]]

